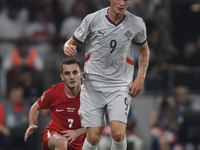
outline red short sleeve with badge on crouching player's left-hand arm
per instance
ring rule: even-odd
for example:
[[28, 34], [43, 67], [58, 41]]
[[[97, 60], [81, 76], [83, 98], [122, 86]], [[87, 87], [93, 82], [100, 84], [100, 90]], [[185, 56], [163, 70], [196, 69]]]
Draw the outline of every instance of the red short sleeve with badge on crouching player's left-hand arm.
[[38, 104], [43, 109], [49, 109], [52, 101], [51, 89], [45, 91], [38, 99]]

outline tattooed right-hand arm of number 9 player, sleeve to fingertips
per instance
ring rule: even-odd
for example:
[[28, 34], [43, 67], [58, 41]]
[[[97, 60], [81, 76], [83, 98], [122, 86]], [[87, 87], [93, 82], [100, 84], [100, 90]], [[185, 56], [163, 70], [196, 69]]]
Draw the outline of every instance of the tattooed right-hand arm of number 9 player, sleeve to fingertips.
[[144, 79], [146, 77], [147, 68], [149, 65], [149, 47], [147, 42], [142, 45], [137, 45], [140, 49], [139, 59], [138, 59], [138, 75], [134, 80], [130, 95], [135, 97], [143, 89]]

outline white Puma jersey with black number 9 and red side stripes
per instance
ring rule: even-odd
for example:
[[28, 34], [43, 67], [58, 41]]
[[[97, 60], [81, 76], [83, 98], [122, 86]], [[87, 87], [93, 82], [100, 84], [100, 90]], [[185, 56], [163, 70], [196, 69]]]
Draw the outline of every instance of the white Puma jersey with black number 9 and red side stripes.
[[128, 11], [115, 24], [108, 9], [87, 15], [73, 35], [85, 44], [83, 83], [96, 91], [129, 90], [134, 73], [133, 43], [146, 41], [146, 26]]

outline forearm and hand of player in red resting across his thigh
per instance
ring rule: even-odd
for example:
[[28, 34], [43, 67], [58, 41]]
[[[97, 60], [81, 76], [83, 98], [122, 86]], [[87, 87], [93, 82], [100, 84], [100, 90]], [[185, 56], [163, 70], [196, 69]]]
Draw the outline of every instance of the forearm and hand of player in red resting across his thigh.
[[76, 130], [61, 131], [61, 133], [63, 133], [63, 136], [67, 137], [69, 144], [71, 144], [76, 138], [83, 134], [86, 134], [87, 128], [78, 128]]

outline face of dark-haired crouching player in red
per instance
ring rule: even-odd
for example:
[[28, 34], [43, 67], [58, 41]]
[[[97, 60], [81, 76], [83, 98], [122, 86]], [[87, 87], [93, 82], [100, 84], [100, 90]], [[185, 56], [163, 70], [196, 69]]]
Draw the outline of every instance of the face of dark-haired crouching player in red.
[[64, 64], [61, 79], [65, 82], [68, 88], [74, 88], [80, 85], [81, 78], [83, 77], [82, 71], [77, 64]]

